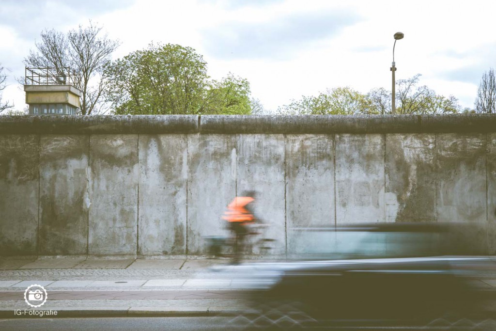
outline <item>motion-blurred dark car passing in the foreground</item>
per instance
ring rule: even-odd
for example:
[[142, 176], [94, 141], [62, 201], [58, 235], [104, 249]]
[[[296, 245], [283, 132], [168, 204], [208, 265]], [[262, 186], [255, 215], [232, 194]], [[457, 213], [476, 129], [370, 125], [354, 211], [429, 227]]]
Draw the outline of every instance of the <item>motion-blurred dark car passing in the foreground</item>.
[[481, 311], [487, 293], [470, 281], [473, 266], [489, 261], [473, 256], [483, 248], [461, 240], [467, 229], [388, 223], [318, 231], [329, 234], [319, 243], [332, 248], [329, 256], [342, 259], [230, 267], [259, 289], [231, 328], [496, 330]]

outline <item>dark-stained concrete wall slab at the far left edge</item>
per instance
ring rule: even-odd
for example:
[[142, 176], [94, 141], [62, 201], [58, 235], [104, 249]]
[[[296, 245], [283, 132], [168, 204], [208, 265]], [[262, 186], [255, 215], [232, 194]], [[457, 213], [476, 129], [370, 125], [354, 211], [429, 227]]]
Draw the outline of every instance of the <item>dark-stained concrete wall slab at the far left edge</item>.
[[0, 135], [0, 256], [37, 255], [39, 137]]

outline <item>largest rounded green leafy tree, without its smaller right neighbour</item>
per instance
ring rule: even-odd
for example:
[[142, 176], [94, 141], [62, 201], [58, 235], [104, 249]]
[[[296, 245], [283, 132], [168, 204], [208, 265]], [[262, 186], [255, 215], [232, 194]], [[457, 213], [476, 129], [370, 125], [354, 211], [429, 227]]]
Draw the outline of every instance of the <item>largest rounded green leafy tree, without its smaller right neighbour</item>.
[[115, 114], [194, 114], [202, 99], [206, 62], [180, 45], [136, 51], [105, 68]]

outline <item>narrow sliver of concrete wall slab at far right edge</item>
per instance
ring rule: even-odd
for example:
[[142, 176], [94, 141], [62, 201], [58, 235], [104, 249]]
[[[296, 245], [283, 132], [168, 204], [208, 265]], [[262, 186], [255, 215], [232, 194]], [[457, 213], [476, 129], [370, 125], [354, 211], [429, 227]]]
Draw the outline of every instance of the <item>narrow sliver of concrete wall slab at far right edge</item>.
[[496, 133], [487, 134], [489, 254], [496, 254]]

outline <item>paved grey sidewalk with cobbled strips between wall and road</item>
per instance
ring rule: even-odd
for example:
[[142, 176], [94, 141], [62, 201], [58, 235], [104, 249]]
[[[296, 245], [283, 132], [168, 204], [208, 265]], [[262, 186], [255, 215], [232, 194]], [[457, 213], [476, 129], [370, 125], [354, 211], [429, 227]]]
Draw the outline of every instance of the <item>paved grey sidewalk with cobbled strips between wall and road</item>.
[[[15, 310], [52, 310], [59, 317], [231, 315], [245, 307], [249, 286], [240, 279], [219, 279], [207, 269], [228, 263], [226, 259], [0, 260], [0, 318], [18, 317]], [[39, 308], [24, 301], [25, 290], [33, 284], [43, 286], [48, 294]]]

